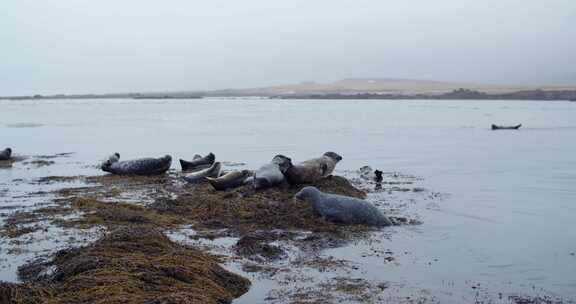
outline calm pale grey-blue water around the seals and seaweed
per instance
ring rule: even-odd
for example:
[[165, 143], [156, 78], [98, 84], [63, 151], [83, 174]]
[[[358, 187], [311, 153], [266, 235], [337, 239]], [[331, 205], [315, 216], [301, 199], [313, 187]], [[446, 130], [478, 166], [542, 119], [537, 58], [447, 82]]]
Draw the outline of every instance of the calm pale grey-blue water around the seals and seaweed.
[[[524, 127], [490, 131], [491, 123]], [[368, 265], [366, 276], [439, 298], [454, 291], [447, 285], [466, 290], [472, 281], [576, 299], [576, 103], [0, 101], [4, 146], [20, 155], [75, 154], [63, 166], [0, 169], [3, 188], [18, 178], [98, 174], [86, 164], [116, 151], [123, 159], [213, 151], [251, 167], [278, 153], [302, 160], [337, 151], [339, 170], [369, 164], [449, 194], [420, 210], [423, 225], [396, 228], [387, 245], [413, 254]], [[354, 260], [355, 250], [330, 254]]]

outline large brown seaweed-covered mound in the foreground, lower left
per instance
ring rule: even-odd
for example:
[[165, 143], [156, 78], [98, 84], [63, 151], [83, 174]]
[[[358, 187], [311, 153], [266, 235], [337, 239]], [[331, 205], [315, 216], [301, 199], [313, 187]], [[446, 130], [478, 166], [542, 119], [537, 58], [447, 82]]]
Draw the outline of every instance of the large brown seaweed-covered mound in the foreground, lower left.
[[[93, 245], [60, 251], [49, 262], [19, 271], [50, 289], [39, 303], [229, 303], [248, 291], [250, 282], [218, 262], [138, 226], [119, 228]], [[6, 303], [28, 303], [10, 300]]]

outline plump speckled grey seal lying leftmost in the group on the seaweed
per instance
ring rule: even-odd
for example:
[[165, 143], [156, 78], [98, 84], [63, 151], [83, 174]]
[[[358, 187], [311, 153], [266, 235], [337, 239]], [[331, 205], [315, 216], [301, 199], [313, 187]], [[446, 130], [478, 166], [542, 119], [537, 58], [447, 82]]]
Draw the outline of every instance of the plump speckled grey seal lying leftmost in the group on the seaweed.
[[172, 156], [165, 155], [160, 158], [140, 158], [120, 161], [120, 154], [114, 153], [105, 161], [102, 171], [118, 175], [158, 175], [163, 174], [172, 164]]

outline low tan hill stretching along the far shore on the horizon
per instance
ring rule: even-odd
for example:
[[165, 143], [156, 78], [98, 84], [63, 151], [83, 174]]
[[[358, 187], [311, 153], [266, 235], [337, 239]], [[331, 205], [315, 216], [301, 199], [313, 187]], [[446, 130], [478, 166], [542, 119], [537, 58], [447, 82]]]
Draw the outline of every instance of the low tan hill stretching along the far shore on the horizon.
[[[542, 92], [544, 91], [544, 92]], [[548, 94], [544, 94], [548, 92]], [[514, 94], [511, 94], [514, 93]], [[134, 99], [197, 99], [201, 97], [282, 97], [282, 98], [347, 98], [348, 95], [364, 95], [364, 98], [389, 99], [408, 98], [453, 98], [482, 97], [482, 99], [541, 99], [563, 100], [573, 98], [576, 85], [566, 86], [506, 86], [467, 82], [448, 82], [396, 78], [350, 78], [329, 83], [301, 82], [298, 84], [276, 85], [260, 88], [225, 89], [212, 91], [166, 91], [133, 92], [112, 94], [76, 94], [76, 95], [34, 95], [0, 97], [0, 99], [90, 99], [90, 98], [134, 98]], [[485, 94], [485, 95], [482, 95]], [[486, 96], [489, 94], [490, 96]]]

